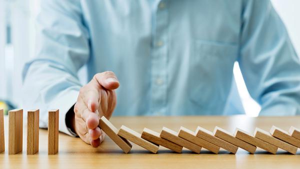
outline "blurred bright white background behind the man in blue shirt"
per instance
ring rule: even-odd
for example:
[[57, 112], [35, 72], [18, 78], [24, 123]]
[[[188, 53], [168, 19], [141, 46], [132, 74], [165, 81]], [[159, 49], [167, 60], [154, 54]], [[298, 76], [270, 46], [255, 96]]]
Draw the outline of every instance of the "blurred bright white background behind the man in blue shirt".
[[[271, 0], [285, 23], [296, 52], [300, 55], [300, 0]], [[21, 71], [24, 62], [34, 55], [35, 17], [39, 0], [0, 0], [0, 108], [22, 107]], [[86, 83], [86, 68], [78, 72]], [[250, 97], [240, 73], [234, 64], [234, 78], [243, 108], [247, 115], [257, 116], [260, 106]]]

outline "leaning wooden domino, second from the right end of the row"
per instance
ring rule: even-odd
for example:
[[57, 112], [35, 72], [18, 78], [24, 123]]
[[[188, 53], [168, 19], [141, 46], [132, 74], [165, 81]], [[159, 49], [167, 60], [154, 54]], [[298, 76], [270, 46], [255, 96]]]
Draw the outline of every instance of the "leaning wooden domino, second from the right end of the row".
[[288, 132], [284, 131], [283, 129], [280, 129], [276, 126], [272, 126], [270, 133], [272, 136], [281, 139], [282, 141], [285, 141], [289, 144], [292, 144], [296, 147], [300, 147], [300, 140], [289, 135]]

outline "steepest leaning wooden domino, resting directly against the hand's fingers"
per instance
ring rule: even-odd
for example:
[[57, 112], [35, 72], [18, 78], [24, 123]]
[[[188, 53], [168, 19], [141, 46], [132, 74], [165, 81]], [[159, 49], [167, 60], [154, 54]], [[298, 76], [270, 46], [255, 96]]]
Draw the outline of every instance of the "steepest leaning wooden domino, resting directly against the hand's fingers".
[[99, 119], [99, 127], [125, 152], [128, 153], [132, 147], [129, 141], [117, 135], [118, 130], [107, 118]]

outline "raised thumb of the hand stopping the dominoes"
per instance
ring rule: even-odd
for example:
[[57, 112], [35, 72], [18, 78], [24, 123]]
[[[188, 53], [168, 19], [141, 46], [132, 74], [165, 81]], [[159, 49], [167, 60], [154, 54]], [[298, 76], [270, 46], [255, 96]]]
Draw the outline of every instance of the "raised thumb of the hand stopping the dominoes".
[[93, 77], [101, 86], [106, 89], [112, 90], [119, 86], [119, 81], [117, 80], [115, 74], [112, 71], [104, 71], [97, 73]]

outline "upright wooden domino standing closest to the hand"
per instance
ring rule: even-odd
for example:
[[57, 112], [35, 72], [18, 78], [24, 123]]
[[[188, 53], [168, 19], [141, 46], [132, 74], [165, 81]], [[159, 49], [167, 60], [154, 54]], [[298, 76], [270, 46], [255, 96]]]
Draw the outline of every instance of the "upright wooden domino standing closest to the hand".
[[58, 118], [59, 110], [51, 109], [48, 112], [48, 154], [58, 152]]

